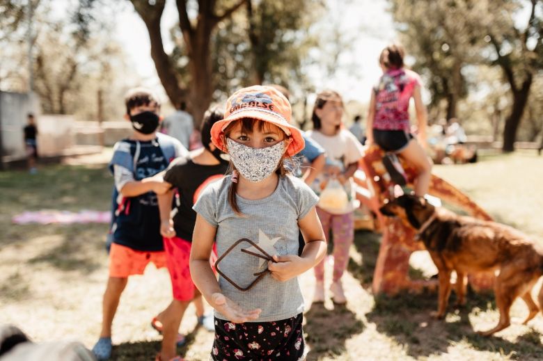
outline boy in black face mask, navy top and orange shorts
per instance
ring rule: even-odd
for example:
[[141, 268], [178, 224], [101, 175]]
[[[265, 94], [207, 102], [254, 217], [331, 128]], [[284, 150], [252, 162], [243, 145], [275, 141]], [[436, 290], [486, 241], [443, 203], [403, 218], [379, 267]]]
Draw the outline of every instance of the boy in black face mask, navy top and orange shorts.
[[136, 88], [125, 98], [125, 119], [132, 122], [132, 136], [116, 143], [109, 168], [115, 177], [116, 212], [110, 250], [109, 280], [102, 303], [102, 331], [93, 348], [98, 360], [111, 356], [111, 323], [120, 295], [130, 275], [143, 274], [154, 263], [166, 266], [160, 235], [157, 195], [168, 186], [157, 173], [187, 150], [181, 143], [157, 134], [160, 104], [150, 91]]

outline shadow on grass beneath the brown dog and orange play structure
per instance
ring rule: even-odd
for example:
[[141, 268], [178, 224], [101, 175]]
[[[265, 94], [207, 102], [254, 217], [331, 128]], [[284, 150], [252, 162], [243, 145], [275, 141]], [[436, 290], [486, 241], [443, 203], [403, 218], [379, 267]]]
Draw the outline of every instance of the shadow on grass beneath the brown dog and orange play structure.
[[[349, 261], [349, 271], [365, 289], [371, 289], [371, 282], [380, 245], [379, 234], [356, 232], [354, 246], [362, 255], [362, 262]], [[412, 279], [422, 278], [417, 268], [409, 269]], [[424, 291], [422, 294], [407, 292], [397, 296], [377, 296], [375, 306], [365, 316], [368, 322], [375, 323], [377, 331], [395, 339], [405, 346], [407, 353], [414, 358], [448, 353], [451, 344], [465, 342], [479, 351], [499, 352], [510, 355], [512, 359], [542, 360], [543, 348], [540, 332], [530, 330], [510, 342], [501, 337], [482, 337], [473, 330], [469, 319], [471, 313], [496, 310], [494, 294], [476, 294], [469, 290], [466, 305], [455, 307], [453, 291], [445, 320], [436, 320], [430, 312], [436, 310], [437, 294]], [[496, 323], [498, 319], [496, 319]]]

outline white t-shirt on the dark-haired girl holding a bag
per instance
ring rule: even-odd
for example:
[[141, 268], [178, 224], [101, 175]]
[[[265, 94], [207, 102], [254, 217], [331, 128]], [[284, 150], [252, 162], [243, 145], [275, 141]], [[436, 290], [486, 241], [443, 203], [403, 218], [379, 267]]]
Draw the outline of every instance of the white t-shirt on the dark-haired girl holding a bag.
[[[306, 133], [326, 151], [326, 165], [338, 166], [342, 171], [345, 171], [349, 164], [358, 162], [362, 157], [363, 149], [361, 143], [348, 130], [341, 129], [334, 136], [326, 136], [318, 130], [310, 130]], [[321, 189], [322, 182], [328, 182], [329, 179], [329, 175], [324, 171], [317, 176], [315, 182], [311, 184], [311, 188], [313, 188], [313, 191], [317, 195], [320, 195], [323, 191]], [[354, 186], [352, 186], [352, 178], [344, 184], [343, 188], [345, 188], [348, 199], [345, 207], [342, 209], [328, 208], [322, 203], [319, 204], [319, 207], [325, 211], [329, 211], [331, 214], [346, 214], [353, 211], [356, 197], [354, 195]]]

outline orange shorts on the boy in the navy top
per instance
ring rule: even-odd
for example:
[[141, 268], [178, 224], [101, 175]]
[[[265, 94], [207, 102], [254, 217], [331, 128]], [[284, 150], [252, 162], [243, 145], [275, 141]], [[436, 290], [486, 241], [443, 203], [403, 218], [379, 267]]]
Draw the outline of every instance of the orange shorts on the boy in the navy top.
[[143, 275], [145, 267], [152, 262], [155, 267], [166, 266], [164, 251], [146, 252], [111, 243], [109, 250], [109, 277], [127, 278], [129, 275]]

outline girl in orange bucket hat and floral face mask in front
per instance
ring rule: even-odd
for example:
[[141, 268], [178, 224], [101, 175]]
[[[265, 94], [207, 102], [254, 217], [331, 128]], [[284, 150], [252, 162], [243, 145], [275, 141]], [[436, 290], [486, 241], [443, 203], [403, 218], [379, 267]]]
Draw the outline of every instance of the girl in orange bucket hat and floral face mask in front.
[[[251, 86], [228, 99], [224, 119], [211, 129], [233, 168], [194, 205], [190, 268], [215, 309], [212, 360], [306, 356], [297, 275], [320, 262], [326, 243], [317, 196], [283, 165], [304, 147], [290, 121], [290, 104], [278, 90]], [[299, 231], [306, 241], [301, 256]], [[218, 281], [209, 263], [214, 241]]]

